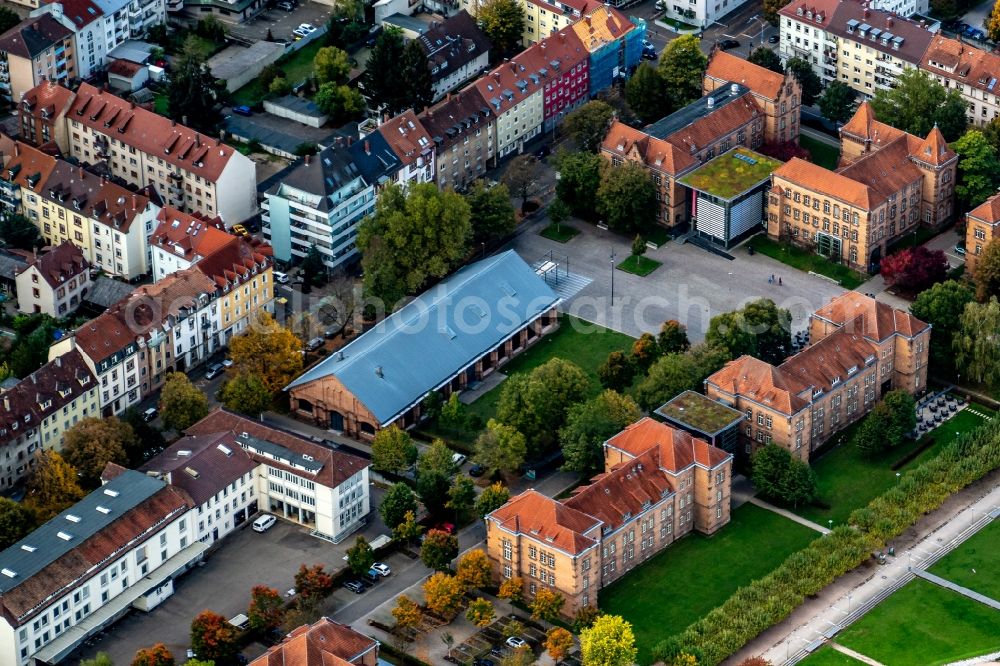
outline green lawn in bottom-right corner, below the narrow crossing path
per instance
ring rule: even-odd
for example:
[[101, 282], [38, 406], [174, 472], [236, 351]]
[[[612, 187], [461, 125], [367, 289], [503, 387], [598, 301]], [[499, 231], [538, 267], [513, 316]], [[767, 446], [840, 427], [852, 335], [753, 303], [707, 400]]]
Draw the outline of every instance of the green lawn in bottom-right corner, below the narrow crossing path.
[[1000, 650], [1000, 613], [914, 580], [837, 637], [841, 645], [892, 666], [931, 666]]

